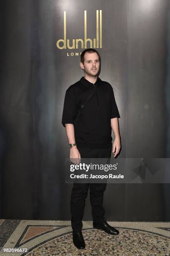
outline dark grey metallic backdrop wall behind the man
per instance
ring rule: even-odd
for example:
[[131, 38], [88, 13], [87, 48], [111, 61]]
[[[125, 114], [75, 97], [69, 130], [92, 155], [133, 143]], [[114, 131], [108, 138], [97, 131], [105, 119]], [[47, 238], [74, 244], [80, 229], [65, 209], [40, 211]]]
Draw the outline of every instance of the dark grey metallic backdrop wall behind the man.
[[[112, 84], [119, 108], [120, 157], [170, 157], [170, 1], [2, 0], [0, 218], [70, 219], [61, 117], [66, 89], [84, 75], [83, 49], [56, 42], [64, 11], [70, 45], [84, 39], [84, 10], [88, 38], [96, 38], [102, 10], [100, 78]], [[169, 196], [170, 184], [108, 184], [106, 218], [170, 221]], [[84, 220], [91, 220], [89, 198]]]

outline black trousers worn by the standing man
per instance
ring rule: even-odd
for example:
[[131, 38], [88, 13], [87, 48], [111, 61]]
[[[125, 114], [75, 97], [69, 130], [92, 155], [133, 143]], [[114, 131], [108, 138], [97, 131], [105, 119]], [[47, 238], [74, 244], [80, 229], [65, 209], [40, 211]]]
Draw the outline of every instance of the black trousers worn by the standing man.
[[[85, 148], [77, 146], [82, 158], [110, 158], [112, 145], [107, 148]], [[91, 213], [94, 223], [103, 223], [104, 208], [103, 195], [107, 183], [74, 183], [71, 191], [71, 227], [81, 230], [84, 215], [85, 200], [90, 187]]]

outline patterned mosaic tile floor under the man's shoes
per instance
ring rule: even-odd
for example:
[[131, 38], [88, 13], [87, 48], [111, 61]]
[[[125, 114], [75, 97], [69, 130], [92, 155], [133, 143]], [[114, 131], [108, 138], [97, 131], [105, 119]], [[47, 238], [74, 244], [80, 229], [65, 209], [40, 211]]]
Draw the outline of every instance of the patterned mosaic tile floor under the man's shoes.
[[[119, 235], [108, 235], [94, 229], [91, 221], [84, 221], [86, 248], [78, 250], [72, 243], [70, 221], [0, 220], [0, 256], [170, 256], [170, 222], [108, 223], [119, 230]], [[4, 252], [4, 248], [20, 252]]]

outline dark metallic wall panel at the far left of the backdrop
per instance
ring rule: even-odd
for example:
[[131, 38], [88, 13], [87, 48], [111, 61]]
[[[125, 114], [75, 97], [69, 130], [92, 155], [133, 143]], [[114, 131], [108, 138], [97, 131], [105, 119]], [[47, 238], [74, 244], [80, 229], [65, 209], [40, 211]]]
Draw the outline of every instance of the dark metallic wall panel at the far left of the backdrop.
[[2, 1], [1, 13], [1, 218], [35, 218], [31, 2]]

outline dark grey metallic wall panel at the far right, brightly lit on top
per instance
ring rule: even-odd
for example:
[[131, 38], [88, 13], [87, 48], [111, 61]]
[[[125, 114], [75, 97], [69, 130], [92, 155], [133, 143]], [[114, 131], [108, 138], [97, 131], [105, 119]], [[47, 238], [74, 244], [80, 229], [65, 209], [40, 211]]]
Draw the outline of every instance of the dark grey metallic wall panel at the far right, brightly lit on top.
[[[126, 156], [165, 158], [168, 157], [165, 86], [170, 1], [127, 3]], [[126, 220], [169, 221], [167, 191], [170, 184], [127, 184]]]

